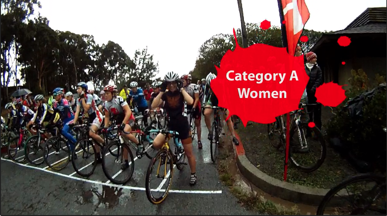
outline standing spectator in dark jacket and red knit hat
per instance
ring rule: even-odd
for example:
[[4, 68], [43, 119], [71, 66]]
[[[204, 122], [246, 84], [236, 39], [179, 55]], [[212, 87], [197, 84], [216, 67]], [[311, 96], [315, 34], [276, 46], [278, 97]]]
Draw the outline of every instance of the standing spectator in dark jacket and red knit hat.
[[[309, 76], [307, 84], [308, 104], [316, 104], [316, 88], [322, 85], [322, 71], [317, 65], [317, 55], [313, 52], [307, 53], [307, 63], [305, 63], [305, 71]], [[321, 104], [310, 105], [308, 108], [309, 122], [314, 122], [316, 127], [321, 130]]]

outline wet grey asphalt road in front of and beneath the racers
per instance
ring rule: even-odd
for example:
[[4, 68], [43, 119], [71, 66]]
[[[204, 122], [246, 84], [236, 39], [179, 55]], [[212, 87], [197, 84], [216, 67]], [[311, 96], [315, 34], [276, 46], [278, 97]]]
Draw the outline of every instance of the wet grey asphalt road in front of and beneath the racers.
[[85, 178], [74, 173], [71, 162], [63, 170], [45, 172], [45, 163], [36, 169], [2, 159], [1, 215], [256, 214], [241, 207], [227, 187], [221, 184], [211, 161], [208, 131], [204, 125], [202, 119], [202, 150], [197, 148], [196, 136], [194, 139], [197, 184], [188, 184], [188, 165], [182, 171], [175, 169], [172, 191], [162, 204], [153, 205], [147, 200], [144, 187], [150, 160], [146, 156], [135, 160], [133, 177], [122, 187], [115, 187], [108, 181], [101, 165], [86, 178], [86, 182], [82, 180]]

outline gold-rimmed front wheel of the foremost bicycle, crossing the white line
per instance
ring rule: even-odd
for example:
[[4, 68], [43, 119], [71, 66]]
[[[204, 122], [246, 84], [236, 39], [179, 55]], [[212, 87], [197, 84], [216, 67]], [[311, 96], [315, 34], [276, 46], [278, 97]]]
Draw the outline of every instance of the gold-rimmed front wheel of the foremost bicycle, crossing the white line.
[[[152, 174], [153, 166], [156, 166], [156, 175]], [[168, 171], [169, 168], [169, 171]], [[157, 182], [153, 184], [155, 189], [151, 187], [151, 177], [156, 176], [158, 179], [162, 179], [161, 183]], [[149, 163], [148, 170], [145, 176], [145, 192], [146, 197], [152, 204], [160, 204], [167, 197], [172, 185], [173, 177], [173, 156], [170, 151], [165, 148], [161, 149], [157, 155]], [[166, 185], [166, 189], [161, 189]], [[157, 196], [156, 193], [161, 193], [161, 196]]]

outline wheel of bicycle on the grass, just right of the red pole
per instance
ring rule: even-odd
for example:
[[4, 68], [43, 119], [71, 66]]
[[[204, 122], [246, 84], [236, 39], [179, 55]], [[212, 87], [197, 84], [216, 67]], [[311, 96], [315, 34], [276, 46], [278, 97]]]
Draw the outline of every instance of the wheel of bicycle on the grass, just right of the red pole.
[[[298, 170], [313, 172], [324, 163], [327, 154], [325, 139], [317, 127], [310, 128], [307, 123], [300, 123], [298, 127], [300, 130], [298, 130], [297, 125], [294, 124], [290, 131], [289, 158]], [[307, 148], [301, 148], [301, 144], [296, 143], [296, 141], [300, 141], [301, 137], [301, 140], [304, 143], [306, 140], [304, 140], [304, 137], [307, 137], [307, 130], [311, 130], [317, 140], [307, 141]], [[300, 134], [298, 134], [298, 132], [300, 132]], [[313, 154], [313, 152], [316, 153]]]

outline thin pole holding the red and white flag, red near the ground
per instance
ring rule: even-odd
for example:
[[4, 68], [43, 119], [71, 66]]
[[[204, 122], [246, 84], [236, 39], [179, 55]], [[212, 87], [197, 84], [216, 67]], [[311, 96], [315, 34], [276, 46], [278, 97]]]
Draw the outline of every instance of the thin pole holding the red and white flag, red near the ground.
[[[282, 46], [286, 48], [286, 50], [289, 52], [288, 49], [288, 38], [286, 36], [286, 26], [283, 23], [285, 20], [284, 17], [284, 11], [282, 7], [282, 0], [277, 0], [278, 2], [278, 9], [279, 9], [279, 18], [281, 21], [281, 34], [282, 34]], [[284, 181], [286, 182], [288, 178], [288, 163], [289, 163], [289, 145], [290, 145], [290, 114], [289, 112], [286, 114], [286, 146], [285, 146], [285, 160], [284, 160]]]

